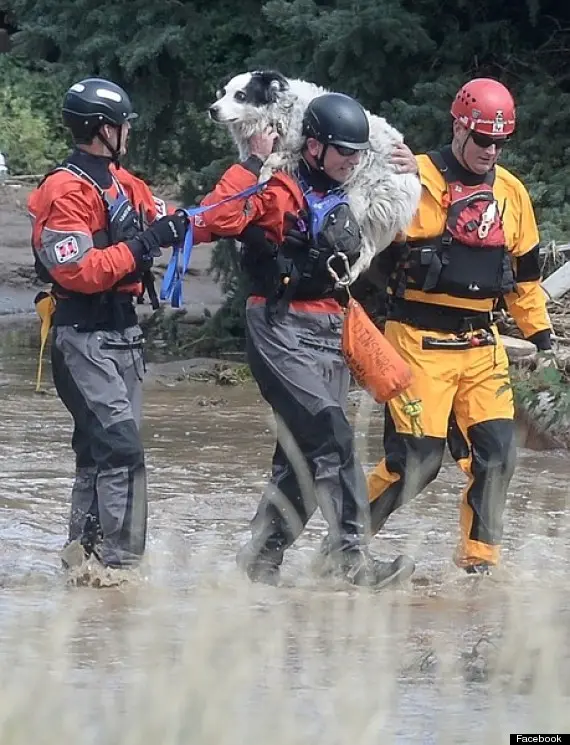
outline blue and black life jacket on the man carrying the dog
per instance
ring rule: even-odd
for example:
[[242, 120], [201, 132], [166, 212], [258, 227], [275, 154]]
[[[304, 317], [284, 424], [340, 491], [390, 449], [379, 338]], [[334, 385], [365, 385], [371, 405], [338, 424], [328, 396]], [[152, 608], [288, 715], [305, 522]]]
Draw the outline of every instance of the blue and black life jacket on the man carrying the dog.
[[345, 277], [360, 255], [362, 233], [346, 193], [338, 188], [318, 194], [302, 179], [299, 183], [307, 210], [291, 228], [307, 242], [301, 247], [285, 242], [276, 249], [274, 287], [267, 304], [273, 317], [282, 317], [293, 299], [330, 297], [336, 277]]

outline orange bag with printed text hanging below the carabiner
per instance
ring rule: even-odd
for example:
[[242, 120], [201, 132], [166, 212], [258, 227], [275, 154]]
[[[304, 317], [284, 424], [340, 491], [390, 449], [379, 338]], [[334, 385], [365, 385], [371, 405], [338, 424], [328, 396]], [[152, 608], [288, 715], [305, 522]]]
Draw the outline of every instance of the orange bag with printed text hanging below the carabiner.
[[342, 352], [355, 381], [377, 403], [390, 401], [412, 382], [407, 362], [352, 297], [345, 310]]

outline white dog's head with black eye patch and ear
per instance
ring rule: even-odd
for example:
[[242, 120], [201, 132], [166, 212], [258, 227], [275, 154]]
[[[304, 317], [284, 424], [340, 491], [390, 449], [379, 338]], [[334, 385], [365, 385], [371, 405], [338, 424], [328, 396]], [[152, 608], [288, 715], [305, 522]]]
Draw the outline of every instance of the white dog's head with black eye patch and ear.
[[272, 70], [244, 72], [231, 78], [216, 94], [209, 108], [215, 122], [234, 124], [258, 120], [261, 110], [277, 103], [289, 83], [281, 73]]

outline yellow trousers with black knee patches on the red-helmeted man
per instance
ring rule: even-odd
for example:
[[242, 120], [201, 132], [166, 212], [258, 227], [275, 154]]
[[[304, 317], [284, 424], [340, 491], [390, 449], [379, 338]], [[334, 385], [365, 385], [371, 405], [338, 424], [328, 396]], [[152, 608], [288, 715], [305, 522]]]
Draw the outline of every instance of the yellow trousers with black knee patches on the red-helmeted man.
[[[446, 441], [469, 481], [460, 506], [458, 566], [497, 564], [507, 488], [515, 464], [508, 359], [495, 327], [487, 343], [460, 348], [458, 337], [388, 321], [386, 337], [408, 362], [409, 398], [422, 402], [417, 437], [400, 399], [386, 406], [385, 458], [368, 476], [373, 533], [438, 474]], [[451, 343], [450, 343], [451, 342]]]

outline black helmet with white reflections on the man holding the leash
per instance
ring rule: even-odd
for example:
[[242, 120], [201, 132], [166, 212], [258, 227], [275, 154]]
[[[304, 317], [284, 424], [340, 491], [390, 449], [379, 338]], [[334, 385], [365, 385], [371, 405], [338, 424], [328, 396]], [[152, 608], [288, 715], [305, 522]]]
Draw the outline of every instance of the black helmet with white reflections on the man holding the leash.
[[110, 80], [87, 78], [74, 83], [63, 99], [63, 123], [77, 143], [88, 144], [102, 124], [120, 127], [136, 119], [125, 91]]

